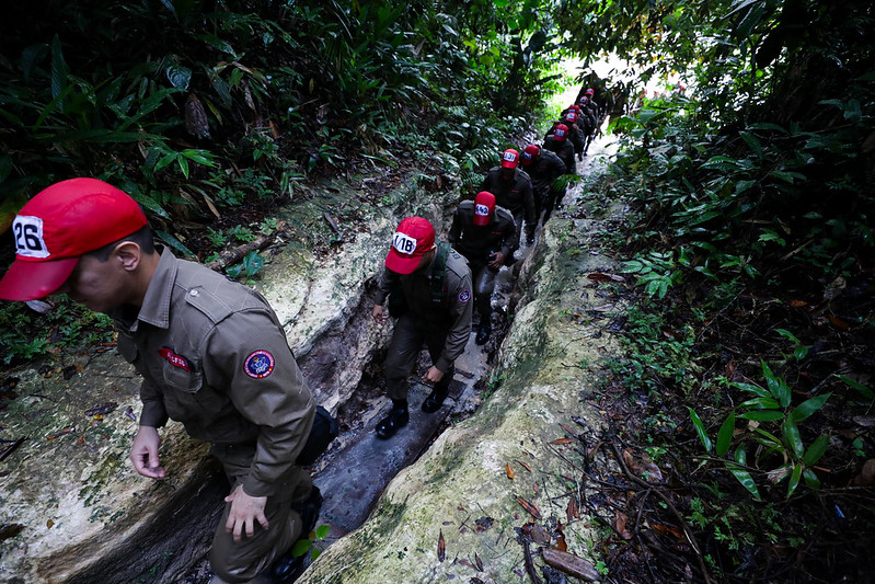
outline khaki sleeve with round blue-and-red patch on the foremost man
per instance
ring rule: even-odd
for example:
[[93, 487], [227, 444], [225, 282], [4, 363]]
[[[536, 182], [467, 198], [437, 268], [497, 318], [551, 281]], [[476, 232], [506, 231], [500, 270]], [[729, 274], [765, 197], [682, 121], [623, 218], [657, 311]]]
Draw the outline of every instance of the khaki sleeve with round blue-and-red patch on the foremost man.
[[258, 426], [243, 490], [273, 495], [307, 443], [315, 412], [286, 335], [267, 310], [238, 311], [214, 328], [204, 355], [205, 371], [217, 373], [210, 385], [227, 387], [234, 409]]

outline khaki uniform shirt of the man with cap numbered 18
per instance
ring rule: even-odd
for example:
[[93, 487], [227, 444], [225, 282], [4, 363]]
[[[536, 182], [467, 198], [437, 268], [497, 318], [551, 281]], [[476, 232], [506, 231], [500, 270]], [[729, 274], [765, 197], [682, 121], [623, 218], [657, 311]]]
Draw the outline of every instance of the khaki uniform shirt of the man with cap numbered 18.
[[421, 274], [399, 274], [383, 267], [373, 301], [382, 305], [395, 282], [401, 284], [410, 313], [419, 327], [448, 329], [444, 351], [435, 367], [447, 373], [464, 351], [471, 334], [471, 270], [468, 262], [456, 250], [447, 256], [444, 275], [444, 298], [436, 302], [431, 297], [431, 270], [435, 262]]

